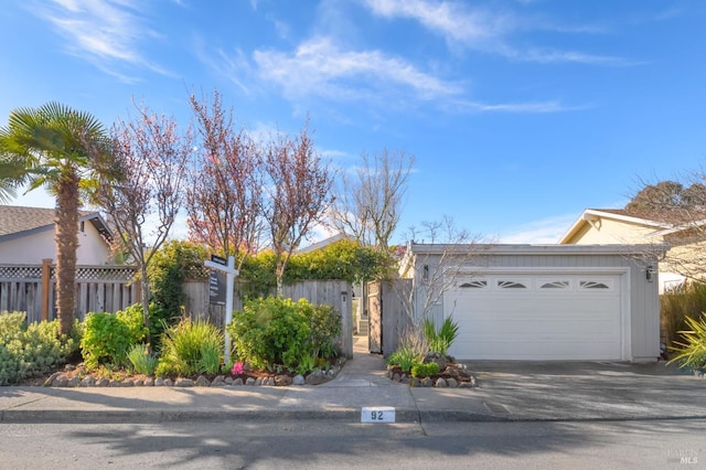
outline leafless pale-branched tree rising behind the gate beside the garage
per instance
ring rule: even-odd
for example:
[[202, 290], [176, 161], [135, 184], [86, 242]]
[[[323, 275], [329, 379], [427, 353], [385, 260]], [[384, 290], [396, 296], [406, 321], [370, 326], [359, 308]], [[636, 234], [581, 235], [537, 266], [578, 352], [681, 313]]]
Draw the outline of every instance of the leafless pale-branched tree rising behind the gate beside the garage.
[[387, 149], [361, 158], [354, 175], [342, 173], [333, 225], [362, 244], [386, 252], [399, 223], [415, 158]]

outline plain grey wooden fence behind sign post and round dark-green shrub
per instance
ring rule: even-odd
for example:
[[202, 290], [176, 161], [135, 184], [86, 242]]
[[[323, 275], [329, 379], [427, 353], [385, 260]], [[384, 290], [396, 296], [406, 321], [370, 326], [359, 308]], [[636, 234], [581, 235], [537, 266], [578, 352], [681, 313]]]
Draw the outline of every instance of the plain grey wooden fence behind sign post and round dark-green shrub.
[[[183, 284], [186, 295], [185, 310], [192, 318], [205, 318], [213, 324], [223, 328], [225, 323], [225, 307], [208, 305], [208, 281], [188, 280]], [[233, 297], [233, 309], [243, 310], [243, 299], [239, 296], [239, 285], [236, 280]], [[282, 287], [287, 298], [299, 300], [304, 298], [314, 305], [333, 306], [341, 314], [341, 352], [346, 357], [353, 357], [353, 312], [351, 310], [351, 286], [343, 280], [306, 280]], [[274, 293], [274, 292], [272, 292]]]

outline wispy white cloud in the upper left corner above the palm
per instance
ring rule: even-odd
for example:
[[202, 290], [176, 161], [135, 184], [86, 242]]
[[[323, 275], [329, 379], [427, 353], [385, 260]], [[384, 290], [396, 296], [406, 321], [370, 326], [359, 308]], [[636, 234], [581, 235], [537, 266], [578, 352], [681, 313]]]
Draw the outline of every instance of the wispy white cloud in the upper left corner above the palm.
[[[138, 7], [131, 0], [53, 0], [36, 4], [35, 11], [66, 38], [67, 51], [124, 82], [138, 78], [130, 67], [171, 75], [148, 60], [140, 45], [159, 34], [145, 25]], [[129, 66], [129, 67], [126, 67]]]

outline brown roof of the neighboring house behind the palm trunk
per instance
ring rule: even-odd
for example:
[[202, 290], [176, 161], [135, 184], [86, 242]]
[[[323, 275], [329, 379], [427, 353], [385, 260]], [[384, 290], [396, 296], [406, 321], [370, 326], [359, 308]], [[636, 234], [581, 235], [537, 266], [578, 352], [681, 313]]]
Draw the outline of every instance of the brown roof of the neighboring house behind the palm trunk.
[[[53, 231], [55, 216], [54, 209], [0, 205], [0, 242]], [[99, 213], [79, 211], [78, 222], [90, 222], [106, 239], [111, 238], [110, 231]]]

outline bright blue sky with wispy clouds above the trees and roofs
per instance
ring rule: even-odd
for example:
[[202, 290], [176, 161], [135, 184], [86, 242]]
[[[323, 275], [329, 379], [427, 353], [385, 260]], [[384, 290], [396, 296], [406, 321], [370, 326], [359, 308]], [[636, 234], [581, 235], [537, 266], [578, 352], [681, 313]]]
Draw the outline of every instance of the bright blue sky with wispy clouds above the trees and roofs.
[[[0, 122], [58, 100], [110, 126], [131, 99], [297, 132], [342, 169], [416, 156], [394, 242], [452, 216], [555, 243], [586, 207], [706, 156], [702, 0], [25, 0], [0, 10]], [[18, 204], [52, 206], [41, 194]]]

